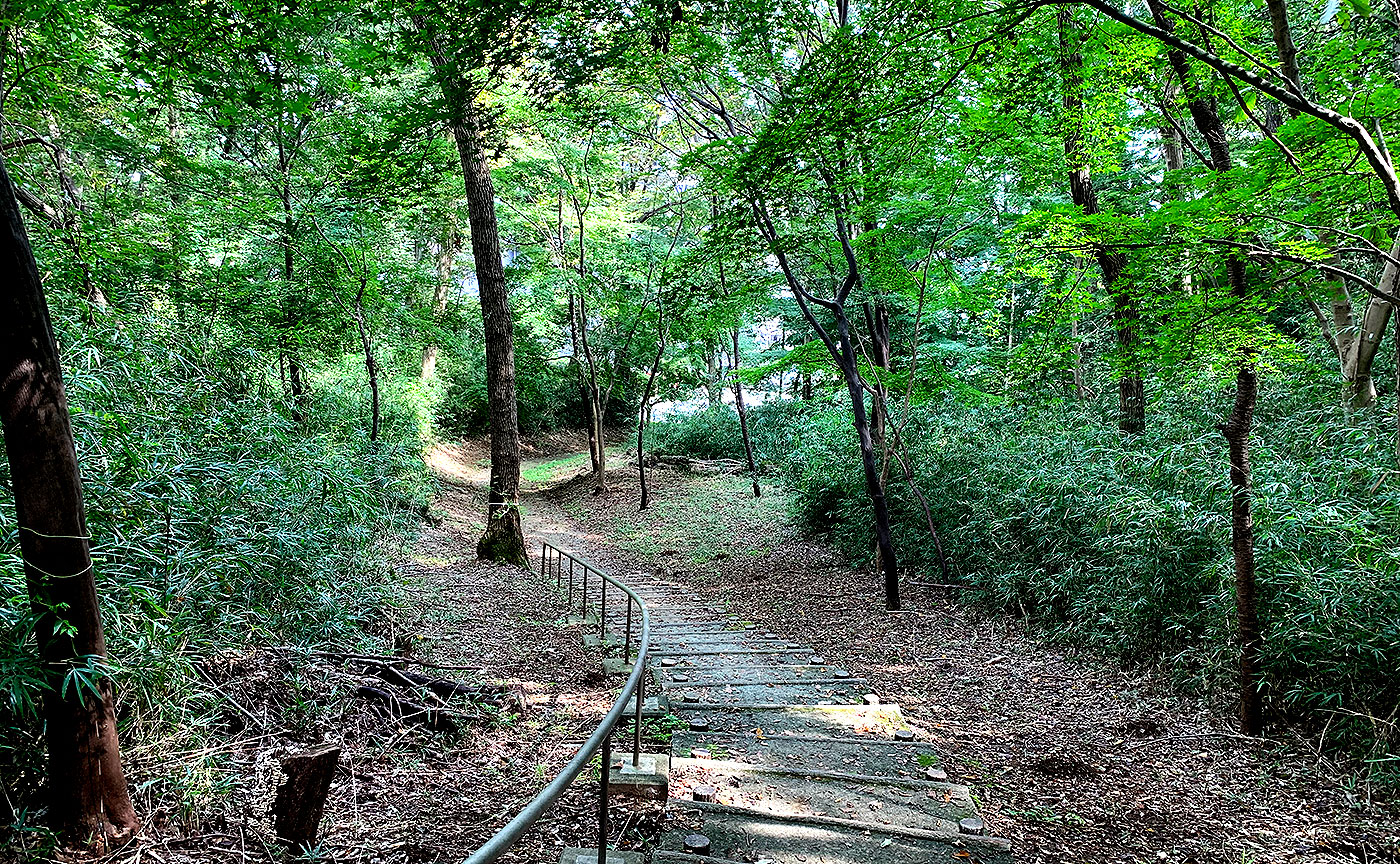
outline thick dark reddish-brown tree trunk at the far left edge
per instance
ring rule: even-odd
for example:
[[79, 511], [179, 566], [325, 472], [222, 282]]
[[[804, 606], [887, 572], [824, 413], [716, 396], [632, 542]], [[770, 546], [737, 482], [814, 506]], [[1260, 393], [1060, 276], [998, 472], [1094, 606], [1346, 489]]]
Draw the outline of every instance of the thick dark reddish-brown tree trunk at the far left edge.
[[70, 839], [111, 847], [140, 822], [122, 772], [112, 682], [102, 668], [106, 643], [57, 344], [3, 162], [0, 207], [0, 255], [10, 273], [8, 287], [0, 288], [0, 421], [48, 683], [49, 816]]

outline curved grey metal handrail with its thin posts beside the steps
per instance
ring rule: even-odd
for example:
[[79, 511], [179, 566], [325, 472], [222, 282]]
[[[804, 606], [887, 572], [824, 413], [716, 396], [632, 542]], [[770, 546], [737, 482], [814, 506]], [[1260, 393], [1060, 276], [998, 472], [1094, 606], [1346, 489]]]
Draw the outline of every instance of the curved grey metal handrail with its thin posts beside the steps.
[[[550, 556], [549, 553], [554, 555]], [[637, 660], [633, 662], [631, 675], [627, 678], [627, 683], [623, 685], [622, 693], [617, 695], [617, 700], [613, 702], [612, 710], [603, 716], [602, 723], [588, 741], [578, 748], [574, 758], [568, 760], [564, 770], [549, 781], [549, 786], [542, 788], [538, 795], [535, 795], [529, 804], [525, 805], [521, 812], [515, 814], [515, 818], [505, 823], [498, 832], [496, 832], [490, 840], [483, 843], [476, 851], [473, 851], [468, 858], [466, 864], [489, 864], [490, 861], [498, 860], [504, 856], [515, 843], [519, 842], [521, 835], [524, 835], [531, 825], [533, 825], [549, 808], [559, 800], [564, 790], [567, 790], [574, 780], [582, 773], [584, 766], [592, 759], [594, 753], [602, 751], [602, 779], [599, 781], [601, 800], [598, 804], [598, 864], [603, 864], [608, 854], [608, 772], [612, 762], [612, 735], [617, 727], [617, 721], [622, 720], [623, 714], [627, 711], [627, 702], [636, 693], [636, 717], [633, 725], [633, 748], [631, 759], [633, 766], [637, 765], [637, 756], [641, 753], [641, 706], [645, 700], [645, 672], [647, 672], [647, 651], [651, 648], [651, 612], [647, 609], [647, 604], [643, 602], [641, 597], [636, 591], [629, 588], [624, 583], [608, 576], [602, 570], [588, 564], [587, 562], [574, 557], [573, 555], [564, 552], [563, 549], [554, 546], [553, 543], [545, 541], [540, 543], [540, 563], [539, 571], [542, 576], [549, 576], [550, 562], [553, 560], [553, 570], [556, 576], [556, 584], [563, 587], [564, 580], [564, 562], [568, 562], [568, 608], [574, 608], [574, 564], [582, 569], [582, 620], [588, 623], [588, 574], [592, 573], [598, 576], [599, 581], [599, 606], [598, 606], [598, 622], [599, 633], [606, 641], [608, 636], [608, 583], [623, 590], [627, 595], [627, 636], [623, 648], [623, 660], [626, 661], [631, 655], [631, 605], [637, 604], [641, 609], [641, 633], [637, 639]]]

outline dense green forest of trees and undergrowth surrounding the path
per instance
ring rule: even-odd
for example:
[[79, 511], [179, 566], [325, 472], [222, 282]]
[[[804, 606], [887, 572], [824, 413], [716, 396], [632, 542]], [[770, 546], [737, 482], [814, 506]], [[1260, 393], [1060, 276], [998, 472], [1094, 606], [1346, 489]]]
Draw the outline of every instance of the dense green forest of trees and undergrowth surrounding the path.
[[[1394, 860], [1400, 4], [1175, 1], [7, 0], [0, 858], [293, 854], [238, 760], [340, 741], [314, 679], [410, 657], [424, 562], [484, 615], [568, 520], [665, 574], [638, 527], [720, 514], [879, 627], [1015, 627], [1303, 753], [1382, 826], [1319, 860]], [[820, 618], [801, 570], [741, 612]], [[301, 853], [461, 858], [519, 809], [473, 807]]]

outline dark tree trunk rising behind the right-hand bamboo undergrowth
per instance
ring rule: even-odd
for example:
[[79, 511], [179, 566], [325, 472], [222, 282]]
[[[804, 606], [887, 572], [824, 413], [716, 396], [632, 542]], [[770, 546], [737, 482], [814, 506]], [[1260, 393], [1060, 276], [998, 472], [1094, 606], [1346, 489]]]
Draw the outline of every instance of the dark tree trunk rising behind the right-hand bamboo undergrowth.
[[[1089, 175], [1084, 146], [1084, 56], [1079, 53], [1079, 28], [1068, 7], [1060, 7], [1060, 69], [1064, 73], [1064, 155], [1070, 171], [1070, 197], [1085, 216], [1099, 213], [1099, 196]], [[1095, 244], [1093, 256], [1103, 276], [1103, 290], [1113, 298], [1113, 323], [1119, 361], [1119, 430], [1130, 434], [1147, 428], [1147, 395], [1138, 350], [1138, 309], [1121, 279], [1127, 263], [1121, 253]]]

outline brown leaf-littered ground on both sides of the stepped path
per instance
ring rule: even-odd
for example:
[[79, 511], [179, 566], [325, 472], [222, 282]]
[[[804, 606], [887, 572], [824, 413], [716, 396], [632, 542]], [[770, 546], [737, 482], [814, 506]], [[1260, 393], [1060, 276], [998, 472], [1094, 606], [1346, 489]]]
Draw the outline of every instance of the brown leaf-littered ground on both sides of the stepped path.
[[[441, 524], [426, 525], [396, 566], [399, 605], [346, 647], [463, 667], [441, 674], [503, 682], [528, 706], [454, 703], [461, 728], [442, 734], [357, 696], [384, 682], [356, 662], [276, 648], [213, 658], [203, 674], [223, 706], [210, 716], [218, 746], [165, 756], [188, 766], [186, 786], [140, 791], [147, 830], [113, 861], [279, 861], [267, 823], [277, 760], [322, 744], [343, 748], [316, 851], [337, 863], [459, 861], [560, 769], [596, 727], [612, 683], [552, 585], [475, 560], [483, 457], [470, 448], [441, 457]], [[778, 490], [755, 501], [736, 479], [655, 472], [645, 513], [630, 471], [613, 472], [603, 497], [587, 482], [540, 490], [582, 468], [567, 452], [531, 458], [532, 549], [549, 536], [619, 576], [683, 585], [725, 632], [735, 616], [739, 639], [773, 633], [864, 678], [921, 730], [948, 780], [972, 790], [987, 833], [1009, 837], [1016, 861], [1400, 860], [1393, 811], [1302, 746], [1239, 741], [1228, 718], [1161, 679], [1046, 646], [946, 595], [911, 591], [910, 612], [885, 613], [876, 580], [798, 536]], [[711, 675], [703, 664], [680, 674]], [[714, 731], [743, 732], [721, 728], [722, 714], [714, 720]], [[756, 741], [741, 738], [678, 737], [676, 746], [756, 752]], [[678, 788], [693, 783], [680, 776]], [[571, 790], [507, 860], [552, 864], [566, 844], [591, 840], [595, 794], [587, 783]], [[619, 804], [624, 836], [613, 840], [636, 849], [686, 825], [685, 811], [673, 811], [682, 822], [661, 823], [654, 811]], [[846, 860], [864, 861], [853, 854]]]

